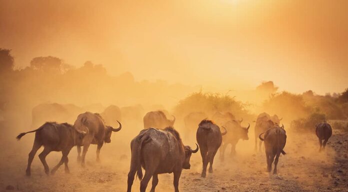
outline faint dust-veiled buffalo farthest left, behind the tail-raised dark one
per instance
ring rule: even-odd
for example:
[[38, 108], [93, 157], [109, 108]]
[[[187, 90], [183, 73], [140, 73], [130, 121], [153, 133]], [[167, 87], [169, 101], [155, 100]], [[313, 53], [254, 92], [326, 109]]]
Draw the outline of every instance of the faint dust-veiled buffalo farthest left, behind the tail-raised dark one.
[[58, 104], [48, 103], [39, 104], [32, 108], [31, 111], [31, 124], [33, 127], [39, 127], [45, 122], [67, 122], [73, 123], [76, 116], [82, 113], [84, 110], [73, 104]]

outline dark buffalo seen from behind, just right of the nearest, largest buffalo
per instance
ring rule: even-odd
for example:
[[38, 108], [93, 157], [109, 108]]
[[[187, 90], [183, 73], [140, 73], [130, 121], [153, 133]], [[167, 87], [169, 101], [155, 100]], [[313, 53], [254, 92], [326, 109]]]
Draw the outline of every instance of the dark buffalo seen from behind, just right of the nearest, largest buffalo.
[[226, 135], [227, 131], [221, 133], [220, 128], [210, 120], [202, 120], [197, 129], [196, 139], [202, 156], [203, 169], [201, 177], [205, 178], [206, 167], [209, 163], [209, 173], [212, 173], [212, 163], [215, 154], [222, 142], [222, 136]]

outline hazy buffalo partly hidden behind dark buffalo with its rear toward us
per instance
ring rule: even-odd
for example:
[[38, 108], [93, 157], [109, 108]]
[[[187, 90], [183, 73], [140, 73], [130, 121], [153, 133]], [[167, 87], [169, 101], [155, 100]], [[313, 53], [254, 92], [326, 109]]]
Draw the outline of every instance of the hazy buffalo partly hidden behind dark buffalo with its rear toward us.
[[[281, 118], [282, 119], [282, 118]], [[267, 129], [273, 127], [274, 125], [279, 125], [281, 119], [278, 119], [278, 116], [273, 115], [269, 116], [267, 113], [261, 113], [257, 116], [255, 124], [255, 148], [257, 151], [257, 137], [259, 134], [267, 131]], [[259, 142], [258, 150], [261, 152], [262, 141]]]

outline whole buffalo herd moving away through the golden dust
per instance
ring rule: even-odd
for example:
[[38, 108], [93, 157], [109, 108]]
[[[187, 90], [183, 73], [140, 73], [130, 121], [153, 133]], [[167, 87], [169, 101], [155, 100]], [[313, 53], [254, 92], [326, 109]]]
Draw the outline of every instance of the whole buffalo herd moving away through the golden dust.
[[[62, 157], [59, 163], [51, 170], [53, 175], [62, 165], [68, 173], [68, 154], [72, 147], [77, 146], [77, 160], [84, 166], [85, 155], [90, 144], [97, 145], [96, 161], [99, 162], [100, 149], [104, 143], [111, 142], [112, 132], [121, 130], [119, 122], [121, 115], [127, 120], [140, 120], [141, 106], [129, 106], [118, 108], [111, 105], [100, 113], [82, 112], [83, 109], [74, 105], [41, 104], [32, 110], [32, 125], [37, 129], [20, 133], [16, 138], [19, 140], [27, 133], [35, 133], [33, 147], [28, 155], [26, 175], [30, 176], [30, 165], [37, 150], [43, 146], [43, 151], [38, 155], [43, 164], [44, 172], [49, 175], [49, 168], [45, 157], [51, 151], [61, 151]], [[132, 115], [134, 111], [135, 115]], [[54, 122], [54, 114], [57, 122]], [[183, 117], [184, 135], [195, 132], [196, 147], [184, 145], [181, 136], [173, 128], [175, 117], [167, 118], [168, 113], [163, 111], [150, 111], [143, 116], [143, 129], [130, 142], [131, 160], [128, 173], [127, 192], [131, 191], [134, 176], [140, 180], [140, 192], [145, 192], [149, 180], [152, 178], [150, 192], [154, 192], [158, 184], [158, 174], [173, 173], [173, 185], [178, 192], [178, 183], [182, 169], [190, 169], [190, 157], [192, 153], [200, 151], [202, 158], [201, 177], [206, 177], [206, 168], [212, 173], [214, 157], [219, 150], [219, 159], [224, 161], [224, 153], [227, 145], [231, 145], [230, 156], [235, 156], [235, 146], [239, 140], [248, 140], [250, 124], [242, 126], [243, 119], [236, 119], [230, 112], [215, 112], [207, 115], [204, 112], [192, 112]], [[73, 121], [74, 117], [74, 121]], [[209, 118], [210, 117], [210, 118]], [[48, 118], [48, 119], [47, 119]], [[261, 151], [264, 142], [267, 172], [271, 172], [274, 162], [273, 174], [277, 173], [277, 163], [280, 154], [285, 155], [283, 148], [286, 144], [286, 132], [284, 126], [280, 126], [282, 118], [277, 115], [270, 116], [261, 113], [257, 116], [254, 127], [255, 143], [254, 150]], [[46, 121], [43, 125], [38, 123]], [[244, 123], [243, 123], [244, 124]], [[117, 125], [118, 128], [112, 126]], [[221, 129], [223, 129], [221, 131]], [[316, 125], [315, 134], [319, 140], [319, 151], [325, 148], [328, 139], [332, 135], [331, 126], [326, 123]], [[259, 141], [258, 141], [259, 140]], [[322, 142], [323, 141], [323, 142]], [[257, 142], [258, 146], [257, 146]], [[81, 147], [83, 147], [80, 156]], [[145, 171], [142, 174], [142, 169]]]

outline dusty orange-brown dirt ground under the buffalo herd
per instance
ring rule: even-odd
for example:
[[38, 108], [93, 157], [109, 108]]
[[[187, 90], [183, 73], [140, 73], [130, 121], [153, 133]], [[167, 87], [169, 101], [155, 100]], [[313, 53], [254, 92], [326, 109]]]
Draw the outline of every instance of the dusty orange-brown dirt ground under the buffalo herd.
[[[126, 127], [126, 126], [124, 126]], [[124, 128], [125, 129], [125, 128]], [[22, 130], [25, 131], [25, 130]], [[253, 130], [250, 130], [253, 132]], [[31, 177], [25, 176], [27, 154], [34, 134], [15, 141], [15, 133], [0, 136], [0, 191], [13, 187], [21, 192], [124, 192], [130, 160], [130, 139], [138, 131], [121, 131], [111, 136], [111, 144], [100, 152], [101, 163], [95, 162], [96, 146], [89, 148], [86, 167], [76, 162], [76, 148], [69, 154], [70, 174], [63, 166], [54, 176], [46, 176], [36, 154], [31, 167]], [[250, 133], [252, 136], [252, 134]], [[250, 137], [250, 136], [249, 136]], [[240, 141], [237, 155], [214, 162], [214, 173], [200, 177], [201, 157], [191, 157], [191, 169], [183, 170], [179, 182], [181, 192], [348, 192], [348, 133], [333, 131], [327, 148], [318, 153], [318, 141], [314, 134], [287, 133], [287, 143], [278, 163], [278, 174], [266, 171], [264, 153], [253, 151], [253, 137]], [[190, 143], [194, 146], [194, 142]], [[229, 154], [229, 149], [226, 150]], [[47, 156], [50, 168], [60, 160], [60, 153]], [[173, 192], [172, 174], [159, 177], [157, 192]], [[151, 182], [147, 187], [150, 190]], [[133, 192], [139, 191], [139, 181], [134, 181]]]

